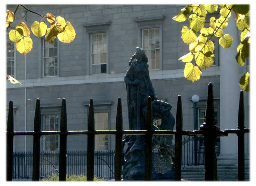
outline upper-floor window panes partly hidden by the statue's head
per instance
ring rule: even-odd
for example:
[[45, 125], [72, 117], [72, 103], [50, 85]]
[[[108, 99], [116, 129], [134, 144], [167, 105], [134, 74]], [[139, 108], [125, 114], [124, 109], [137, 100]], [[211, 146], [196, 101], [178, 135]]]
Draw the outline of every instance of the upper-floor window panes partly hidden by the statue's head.
[[148, 57], [149, 69], [160, 69], [160, 29], [142, 29], [142, 48]]

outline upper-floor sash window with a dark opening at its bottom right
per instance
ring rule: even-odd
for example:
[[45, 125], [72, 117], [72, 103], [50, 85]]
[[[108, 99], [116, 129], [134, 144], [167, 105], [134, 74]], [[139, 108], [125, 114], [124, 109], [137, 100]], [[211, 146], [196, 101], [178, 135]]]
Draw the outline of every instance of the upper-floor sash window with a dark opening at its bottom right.
[[91, 74], [107, 73], [107, 33], [91, 34]]

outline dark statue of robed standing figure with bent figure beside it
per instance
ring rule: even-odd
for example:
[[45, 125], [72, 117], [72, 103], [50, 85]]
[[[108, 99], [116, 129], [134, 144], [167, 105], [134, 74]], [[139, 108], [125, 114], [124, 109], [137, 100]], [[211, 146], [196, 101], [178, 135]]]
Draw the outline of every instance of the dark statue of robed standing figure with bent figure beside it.
[[[136, 59], [136, 60], [135, 60]], [[135, 60], [135, 61], [133, 61]], [[145, 116], [148, 96], [152, 98], [152, 113], [155, 120], [161, 119], [159, 127], [153, 129], [173, 130], [175, 119], [170, 112], [172, 105], [158, 100], [149, 78], [148, 58], [145, 51], [139, 47], [130, 58], [124, 82], [127, 90], [127, 105], [129, 129], [145, 129]], [[124, 180], [145, 179], [145, 137], [143, 135], [124, 136]], [[160, 151], [153, 156], [152, 179], [173, 179], [173, 147], [172, 136], [156, 136], [153, 147]], [[166, 167], [166, 168], [164, 168]]]

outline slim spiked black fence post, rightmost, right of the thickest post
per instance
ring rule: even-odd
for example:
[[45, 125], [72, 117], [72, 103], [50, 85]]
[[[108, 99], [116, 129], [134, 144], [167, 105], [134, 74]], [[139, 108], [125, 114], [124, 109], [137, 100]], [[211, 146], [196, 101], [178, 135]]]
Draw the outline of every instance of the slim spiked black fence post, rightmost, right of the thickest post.
[[244, 93], [240, 91], [239, 110], [238, 110], [238, 181], [244, 181]]

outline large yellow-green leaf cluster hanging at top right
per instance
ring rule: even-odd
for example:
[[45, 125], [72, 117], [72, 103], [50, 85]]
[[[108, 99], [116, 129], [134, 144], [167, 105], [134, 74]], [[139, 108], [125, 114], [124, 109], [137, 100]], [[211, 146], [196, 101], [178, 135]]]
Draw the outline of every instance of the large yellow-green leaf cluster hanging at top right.
[[[219, 12], [219, 17], [210, 17], [209, 27], [205, 27], [208, 13]], [[213, 64], [215, 44], [211, 41], [213, 37], [218, 38], [219, 45], [223, 48], [230, 48], [233, 38], [229, 34], [223, 35], [223, 29], [228, 26], [228, 19], [231, 13], [236, 15], [237, 28], [241, 30], [241, 43], [237, 47], [235, 57], [240, 66], [245, 64], [249, 57], [250, 45], [250, 23], [249, 5], [233, 4], [188, 4], [185, 8], [173, 17], [177, 22], [185, 22], [188, 18], [189, 27], [183, 26], [181, 38], [185, 44], [189, 45], [189, 53], [179, 58], [179, 61], [186, 62], [184, 76], [194, 82], [200, 79], [202, 71]], [[249, 73], [240, 80], [240, 87], [249, 90]], [[241, 84], [241, 82], [244, 84]]]

